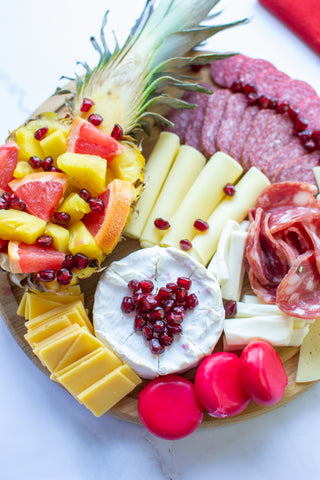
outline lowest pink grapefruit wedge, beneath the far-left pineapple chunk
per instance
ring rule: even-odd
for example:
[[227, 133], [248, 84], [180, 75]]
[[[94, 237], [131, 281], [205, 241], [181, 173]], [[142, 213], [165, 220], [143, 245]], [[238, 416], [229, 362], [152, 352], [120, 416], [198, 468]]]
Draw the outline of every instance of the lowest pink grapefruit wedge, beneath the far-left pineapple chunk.
[[12, 273], [34, 273], [42, 270], [59, 270], [65, 254], [53, 247], [41, 248], [26, 243], [8, 243], [10, 271]]

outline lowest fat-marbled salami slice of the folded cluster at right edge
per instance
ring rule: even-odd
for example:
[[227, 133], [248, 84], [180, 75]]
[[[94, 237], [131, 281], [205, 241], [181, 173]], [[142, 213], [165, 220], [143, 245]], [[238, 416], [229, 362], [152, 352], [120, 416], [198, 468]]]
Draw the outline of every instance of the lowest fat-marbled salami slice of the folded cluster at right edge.
[[320, 316], [320, 274], [315, 254], [300, 255], [277, 288], [276, 303], [292, 317], [314, 319]]

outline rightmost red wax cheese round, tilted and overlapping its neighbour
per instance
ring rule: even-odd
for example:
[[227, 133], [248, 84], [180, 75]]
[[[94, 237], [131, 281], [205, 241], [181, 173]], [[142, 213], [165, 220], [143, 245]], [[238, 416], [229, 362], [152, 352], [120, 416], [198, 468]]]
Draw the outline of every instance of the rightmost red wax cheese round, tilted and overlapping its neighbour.
[[259, 405], [281, 400], [288, 376], [275, 349], [267, 342], [247, 345], [240, 357], [241, 380], [248, 395]]

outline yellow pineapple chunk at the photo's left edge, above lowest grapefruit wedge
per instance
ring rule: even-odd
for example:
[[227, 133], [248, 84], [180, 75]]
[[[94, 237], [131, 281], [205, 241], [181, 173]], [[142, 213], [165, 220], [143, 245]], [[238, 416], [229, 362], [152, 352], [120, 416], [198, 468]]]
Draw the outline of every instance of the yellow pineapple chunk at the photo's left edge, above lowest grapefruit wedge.
[[19, 210], [0, 210], [0, 238], [32, 244], [44, 233], [46, 222]]

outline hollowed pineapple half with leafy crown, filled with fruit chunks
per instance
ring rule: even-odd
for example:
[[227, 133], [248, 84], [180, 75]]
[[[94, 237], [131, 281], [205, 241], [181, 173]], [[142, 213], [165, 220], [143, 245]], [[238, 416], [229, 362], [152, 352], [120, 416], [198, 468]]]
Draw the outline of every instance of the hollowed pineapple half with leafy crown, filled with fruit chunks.
[[105, 15], [101, 46], [91, 40], [98, 65], [83, 64], [75, 91], [57, 89], [67, 112], [42, 113], [0, 147], [2, 269], [57, 290], [101, 267], [143, 188], [139, 132], [151, 128], [150, 119], [170, 123], [150, 107], [194, 107], [164, 93], [167, 85], [211, 93], [177, 67], [227, 56], [183, 56], [235, 25], [201, 25], [216, 3], [148, 0], [124, 46], [113, 52], [104, 37]]

